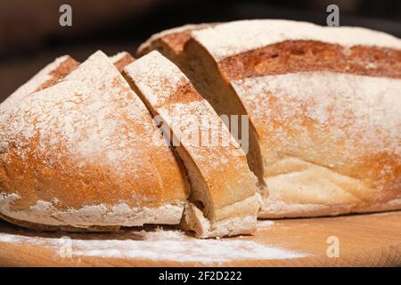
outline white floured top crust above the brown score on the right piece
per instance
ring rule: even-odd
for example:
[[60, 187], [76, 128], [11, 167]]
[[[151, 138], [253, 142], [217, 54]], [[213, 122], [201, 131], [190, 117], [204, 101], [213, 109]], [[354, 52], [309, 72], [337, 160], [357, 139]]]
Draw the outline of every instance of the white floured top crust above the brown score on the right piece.
[[192, 32], [216, 61], [284, 41], [318, 41], [334, 45], [368, 45], [401, 49], [397, 37], [369, 28], [322, 27], [294, 20], [238, 20]]

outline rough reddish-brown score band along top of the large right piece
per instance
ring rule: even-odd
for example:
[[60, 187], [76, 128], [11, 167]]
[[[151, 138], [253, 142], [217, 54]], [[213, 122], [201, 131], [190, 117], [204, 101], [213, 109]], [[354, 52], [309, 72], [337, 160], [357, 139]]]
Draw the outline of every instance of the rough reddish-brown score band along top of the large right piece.
[[218, 62], [230, 80], [302, 71], [332, 71], [401, 78], [401, 51], [374, 46], [344, 47], [316, 41], [285, 41]]

